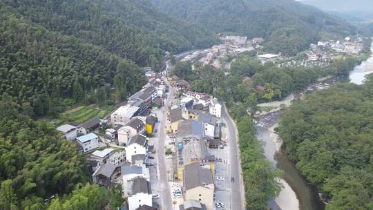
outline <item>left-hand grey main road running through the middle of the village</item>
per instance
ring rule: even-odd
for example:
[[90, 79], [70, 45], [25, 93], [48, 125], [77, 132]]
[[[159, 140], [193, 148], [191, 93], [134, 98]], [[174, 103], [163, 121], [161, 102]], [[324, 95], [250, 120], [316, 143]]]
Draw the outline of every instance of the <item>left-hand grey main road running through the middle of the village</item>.
[[[168, 85], [168, 82], [164, 81]], [[160, 131], [157, 142], [157, 160], [158, 160], [158, 173], [160, 176], [160, 192], [162, 199], [162, 209], [173, 209], [172, 198], [170, 192], [169, 183], [167, 182], [166, 174], [166, 160], [164, 157], [164, 140], [166, 140], [166, 131], [164, 126], [166, 125], [167, 116], [166, 113], [169, 110], [169, 104], [173, 98], [173, 88], [169, 86], [169, 95], [167, 96], [166, 102], [164, 103], [164, 114], [162, 114], [162, 119], [160, 122]]]

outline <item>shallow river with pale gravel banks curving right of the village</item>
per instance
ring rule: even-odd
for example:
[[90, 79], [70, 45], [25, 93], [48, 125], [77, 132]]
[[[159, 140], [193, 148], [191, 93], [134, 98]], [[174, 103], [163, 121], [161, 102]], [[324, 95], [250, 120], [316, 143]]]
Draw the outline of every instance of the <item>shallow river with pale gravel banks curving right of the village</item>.
[[[373, 51], [373, 44], [371, 50]], [[350, 82], [363, 84], [365, 75], [370, 73], [373, 73], [373, 56], [363, 61], [363, 63], [356, 66], [354, 70], [351, 71], [349, 76]], [[281, 102], [267, 103], [265, 106], [276, 106], [278, 104], [289, 106], [291, 102], [289, 102], [289, 99], [285, 99]], [[269, 202], [269, 207], [274, 210], [324, 209], [324, 204], [318, 198], [317, 191], [308, 184], [307, 180], [305, 180], [302, 175], [300, 175], [294, 162], [291, 162], [291, 160], [287, 158], [285, 151], [283, 151], [281, 147], [282, 141], [274, 132], [274, 128], [278, 125], [282, 113], [279, 109], [280, 108], [274, 108], [273, 112], [260, 115], [256, 123], [257, 137], [265, 143], [263, 149], [267, 160], [272, 163], [274, 168], [284, 171], [283, 178], [280, 180], [284, 185], [284, 189], [277, 198]]]

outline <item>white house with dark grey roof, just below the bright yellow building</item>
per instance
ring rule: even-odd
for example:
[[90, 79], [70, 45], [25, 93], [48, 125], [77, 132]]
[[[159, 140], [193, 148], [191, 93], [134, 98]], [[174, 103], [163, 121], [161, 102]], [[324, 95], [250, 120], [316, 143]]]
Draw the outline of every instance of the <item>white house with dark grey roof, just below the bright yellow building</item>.
[[148, 140], [144, 135], [135, 135], [126, 146], [126, 160], [132, 162], [132, 155], [147, 155]]

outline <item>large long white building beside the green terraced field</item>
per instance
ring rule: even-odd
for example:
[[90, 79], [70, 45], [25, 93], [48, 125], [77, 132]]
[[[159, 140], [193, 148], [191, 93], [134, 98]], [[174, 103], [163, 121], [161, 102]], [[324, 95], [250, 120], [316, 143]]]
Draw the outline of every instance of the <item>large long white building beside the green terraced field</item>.
[[126, 124], [139, 113], [138, 106], [120, 106], [111, 116], [111, 124]]

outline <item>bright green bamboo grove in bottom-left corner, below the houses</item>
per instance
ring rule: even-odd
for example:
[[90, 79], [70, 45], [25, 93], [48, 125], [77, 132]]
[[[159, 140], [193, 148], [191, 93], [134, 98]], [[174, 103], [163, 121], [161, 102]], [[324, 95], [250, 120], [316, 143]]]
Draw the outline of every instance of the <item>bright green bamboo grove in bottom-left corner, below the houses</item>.
[[90, 180], [83, 155], [48, 122], [19, 113], [6, 93], [0, 110], [0, 209], [44, 209], [45, 198]]

